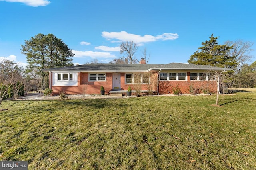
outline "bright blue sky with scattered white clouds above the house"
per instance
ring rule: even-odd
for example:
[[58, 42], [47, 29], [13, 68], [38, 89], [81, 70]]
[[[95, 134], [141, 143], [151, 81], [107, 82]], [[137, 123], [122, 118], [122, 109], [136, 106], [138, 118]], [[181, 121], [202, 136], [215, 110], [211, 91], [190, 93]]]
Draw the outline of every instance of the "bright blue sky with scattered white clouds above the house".
[[[149, 64], [186, 63], [211, 34], [218, 42], [256, 40], [254, 0], [0, 0], [0, 58], [26, 66], [21, 44], [52, 33], [74, 63], [122, 57], [122, 41], [146, 47]], [[252, 47], [256, 60], [256, 44]]]

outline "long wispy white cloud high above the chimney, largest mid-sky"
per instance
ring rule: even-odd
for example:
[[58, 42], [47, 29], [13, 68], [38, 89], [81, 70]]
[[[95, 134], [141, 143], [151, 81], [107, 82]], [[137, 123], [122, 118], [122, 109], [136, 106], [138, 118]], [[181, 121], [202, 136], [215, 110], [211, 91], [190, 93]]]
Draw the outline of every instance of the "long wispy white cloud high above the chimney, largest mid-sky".
[[[166, 40], [174, 40], [179, 37], [177, 33], [163, 33], [162, 35], [136, 35], [136, 34], [130, 34], [126, 31], [121, 32], [102, 32], [102, 37], [106, 38], [107, 40], [112, 40], [111, 42], [122, 42], [122, 41], [134, 41], [138, 44], [143, 44], [147, 42], [153, 42], [153, 41], [166, 41]], [[113, 40], [114, 39], [114, 40]]]

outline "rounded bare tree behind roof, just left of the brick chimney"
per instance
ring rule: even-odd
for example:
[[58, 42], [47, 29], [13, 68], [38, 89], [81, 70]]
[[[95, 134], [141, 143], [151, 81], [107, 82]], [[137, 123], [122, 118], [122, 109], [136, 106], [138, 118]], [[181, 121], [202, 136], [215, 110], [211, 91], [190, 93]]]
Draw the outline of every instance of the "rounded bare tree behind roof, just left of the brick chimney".
[[120, 44], [120, 54], [126, 53], [127, 59], [129, 60], [130, 64], [138, 63], [138, 59], [134, 57], [134, 54], [136, 53], [137, 49], [138, 45], [133, 41], [125, 41]]

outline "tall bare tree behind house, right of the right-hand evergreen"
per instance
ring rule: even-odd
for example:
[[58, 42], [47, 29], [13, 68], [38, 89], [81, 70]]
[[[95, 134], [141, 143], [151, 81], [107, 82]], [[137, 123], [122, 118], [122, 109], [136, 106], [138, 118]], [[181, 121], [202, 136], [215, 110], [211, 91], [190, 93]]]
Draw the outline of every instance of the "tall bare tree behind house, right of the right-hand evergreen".
[[236, 41], [226, 41], [225, 44], [228, 46], [233, 45], [233, 48], [228, 51], [229, 56], [236, 56], [236, 62], [238, 65], [236, 66], [235, 71], [239, 71], [243, 64], [250, 61], [252, 58], [252, 55], [250, 55], [250, 52], [253, 50], [251, 49], [253, 42], [246, 41], [244, 42], [241, 39], [238, 39]]

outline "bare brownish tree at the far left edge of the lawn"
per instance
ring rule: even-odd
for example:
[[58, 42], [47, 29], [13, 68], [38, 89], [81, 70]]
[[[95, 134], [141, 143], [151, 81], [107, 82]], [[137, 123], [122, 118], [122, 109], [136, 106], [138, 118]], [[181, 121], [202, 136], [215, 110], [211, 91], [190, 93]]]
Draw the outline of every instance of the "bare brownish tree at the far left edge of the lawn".
[[22, 69], [13, 61], [0, 61], [0, 106], [2, 100], [8, 95], [8, 90], [13, 90], [13, 97], [17, 97], [22, 83]]

